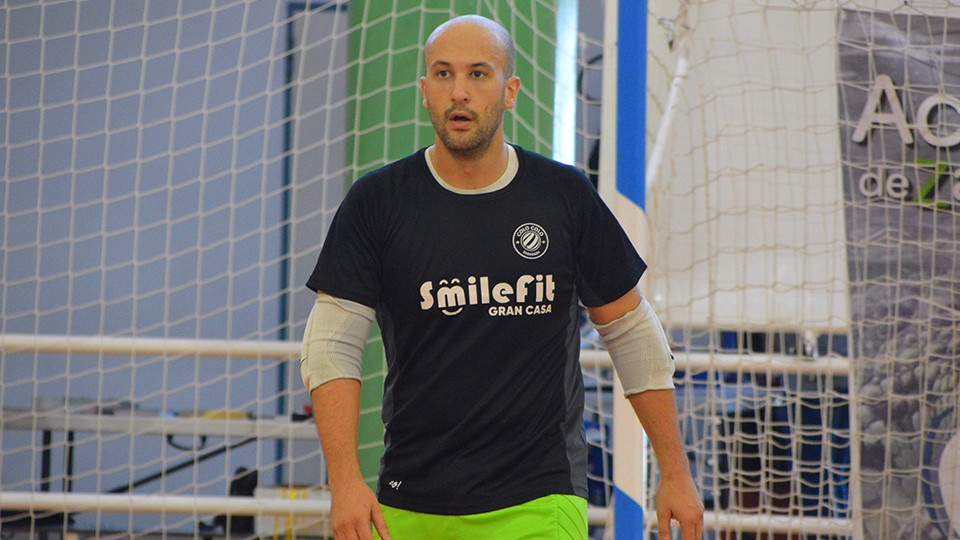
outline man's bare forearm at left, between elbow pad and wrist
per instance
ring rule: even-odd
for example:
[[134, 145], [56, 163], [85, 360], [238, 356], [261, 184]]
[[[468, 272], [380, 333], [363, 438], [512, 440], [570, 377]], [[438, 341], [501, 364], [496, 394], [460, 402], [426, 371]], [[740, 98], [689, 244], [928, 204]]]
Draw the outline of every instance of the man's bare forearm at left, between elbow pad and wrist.
[[334, 379], [310, 392], [331, 488], [363, 479], [357, 455], [360, 381]]

